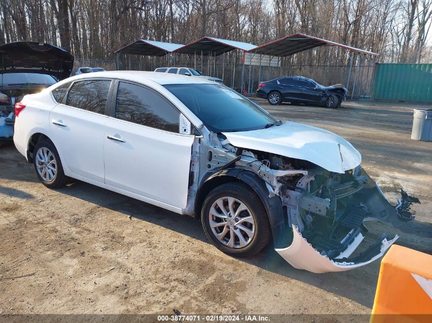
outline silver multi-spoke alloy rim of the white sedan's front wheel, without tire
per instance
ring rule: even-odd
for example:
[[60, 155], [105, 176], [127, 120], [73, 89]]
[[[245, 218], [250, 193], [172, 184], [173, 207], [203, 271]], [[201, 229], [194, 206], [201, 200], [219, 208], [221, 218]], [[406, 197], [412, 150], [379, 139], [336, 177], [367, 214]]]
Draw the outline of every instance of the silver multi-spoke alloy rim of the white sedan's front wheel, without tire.
[[210, 228], [214, 236], [231, 248], [242, 248], [256, 234], [255, 219], [247, 206], [231, 196], [218, 198], [209, 211]]

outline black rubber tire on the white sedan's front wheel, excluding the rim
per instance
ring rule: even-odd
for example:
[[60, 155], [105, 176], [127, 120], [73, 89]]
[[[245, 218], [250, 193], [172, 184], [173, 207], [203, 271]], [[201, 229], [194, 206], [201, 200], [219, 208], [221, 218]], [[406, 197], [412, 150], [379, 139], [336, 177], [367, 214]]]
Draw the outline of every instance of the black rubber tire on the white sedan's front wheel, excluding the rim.
[[[255, 221], [255, 234], [252, 238], [248, 238], [248, 243], [243, 246], [237, 246], [237, 247], [231, 247], [224, 243], [222, 243], [216, 236], [215, 233], [212, 231], [212, 228], [210, 227], [210, 209], [213, 206], [213, 204], [216, 203], [216, 201], [219, 198], [223, 197], [234, 197], [239, 202], [243, 203], [247, 207], [247, 211], [240, 212], [243, 213], [243, 216], [252, 215], [254, 221]], [[238, 208], [238, 207], [237, 207]], [[228, 211], [228, 210], [226, 210]], [[249, 211], [249, 212], [248, 212]], [[246, 212], [246, 214], [244, 214]], [[240, 216], [239, 216], [240, 217]], [[237, 219], [237, 218], [236, 218]], [[241, 219], [241, 217], [240, 217]], [[231, 219], [234, 220], [234, 217]], [[226, 220], [228, 223], [228, 219]], [[240, 183], [240, 182], [234, 182], [234, 183], [226, 183], [222, 184], [216, 188], [214, 188], [206, 197], [206, 200], [204, 200], [202, 211], [201, 211], [201, 222], [202, 227], [204, 229], [204, 232], [206, 232], [207, 237], [210, 239], [210, 241], [223, 253], [228, 254], [230, 256], [234, 257], [251, 257], [257, 253], [259, 253], [268, 243], [270, 240], [270, 224], [268, 221], [267, 213], [265, 211], [264, 206], [262, 205], [260, 198], [257, 196], [257, 194], [246, 184]], [[245, 222], [243, 222], [245, 223]], [[250, 225], [250, 223], [247, 223], [247, 225]], [[225, 228], [223, 226], [223, 228]], [[237, 227], [232, 227], [234, 229], [239, 229]], [[217, 229], [217, 230], [224, 230], [224, 229]], [[229, 229], [228, 229], [229, 230]], [[238, 230], [240, 232], [240, 230]], [[230, 234], [231, 236], [232, 231], [228, 232], [226, 235]], [[233, 235], [235, 238], [234, 240], [239, 241], [239, 237], [236, 235]], [[229, 238], [228, 238], [229, 239]], [[237, 242], [236, 242], [237, 243]], [[240, 245], [240, 242], [239, 242]]]

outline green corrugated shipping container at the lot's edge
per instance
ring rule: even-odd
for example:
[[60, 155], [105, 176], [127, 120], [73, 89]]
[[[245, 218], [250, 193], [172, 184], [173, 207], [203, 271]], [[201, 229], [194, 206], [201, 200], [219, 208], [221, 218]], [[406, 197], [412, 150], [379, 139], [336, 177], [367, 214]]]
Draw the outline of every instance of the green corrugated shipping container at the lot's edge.
[[432, 102], [432, 64], [376, 64], [372, 97]]

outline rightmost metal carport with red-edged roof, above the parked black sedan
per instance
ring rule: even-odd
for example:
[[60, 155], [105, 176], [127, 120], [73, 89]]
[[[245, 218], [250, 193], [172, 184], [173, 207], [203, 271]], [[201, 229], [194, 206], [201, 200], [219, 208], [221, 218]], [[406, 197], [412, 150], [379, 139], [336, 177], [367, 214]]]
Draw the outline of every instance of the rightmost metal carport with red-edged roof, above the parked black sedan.
[[[345, 44], [340, 44], [331, 40], [317, 38], [301, 33], [293, 34], [290, 36], [283, 37], [281, 39], [268, 42], [264, 45], [257, 46], [255, 48], [249, 49], [246, 51], [246, 53], [250, 53], [248, 55], [249, 62], [246, 61], [246, 58], [244, 58], [243, 63], [249, 65], [249, 82], [248, 82], [248, 92], [252, 92], [253, 84], [251, 83], [251, 67], [252, 67], [252, 60], [256, 58], [256, 56], [259, 55], [259, 73], [258, 73], [258, 82], [261, 81], [261, 61], [262, 56], [267, 55], [269, 58], [269, 62], [272, 58], [277, 57], [278, 58], [278, 66], [279, 66], [279, 60], [282, 57], [291, 56], [297, 53], [301, 53], [304, 51], [307, 51], [308, 49], [312, 49], [319, 46], [337, 46], [340, 48], [347, 49], [347, 51], [351, 52], [350, 54], [350, 65], [349, 65], [349, 72], [348, 72], [348, 78], [347, 78], [347, 88], [350, 86], [350, 80], [351, 80], [351, 73], [352, 73], [352, 67], [353, 67], [353, 61], [354, 61], [354, 54], [358, 54], [356, 57], [356, 60], [359, 61], [358, 66], [360, 66], [364, 60], [373, 60], [373, 66], [375, 66], [376, 58], [379, 56], [377, 53], [373, 53], [370, 51], [366, 51], [365, 49], [359, 49], [352, 46], [348, 46]], [[366, 79], [369, 79], [369, 67], [367, 70], [367, 76]], [[351, 97], [354, 95], [356, 81], [357, 81], [357, 73], [358, 68], [355, 70], [354, 74], [354, 80], [353, 80], [353, 86], [351, 90]], [[371, 76], [373, 76], [373, 71]], [[361, 76], [362, 78], [362, 76]]]

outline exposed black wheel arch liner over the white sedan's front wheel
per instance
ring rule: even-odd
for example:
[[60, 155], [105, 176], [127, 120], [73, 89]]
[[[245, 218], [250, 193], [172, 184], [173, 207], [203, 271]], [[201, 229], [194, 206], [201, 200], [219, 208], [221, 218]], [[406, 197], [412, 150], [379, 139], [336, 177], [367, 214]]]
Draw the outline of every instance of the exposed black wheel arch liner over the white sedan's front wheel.
[[288, 233], [281, 199], [278, 195], [270, 196], [265, 182], [252, 171], [228, 168], [218, 171], [207, 178], [196, 194], [195, 217], [201, 217], [203, 202], [210, 191], [219, 185], [230, 182], [242, 182], [257, 193], [266, 210], [275, 247], [286, 247]]

